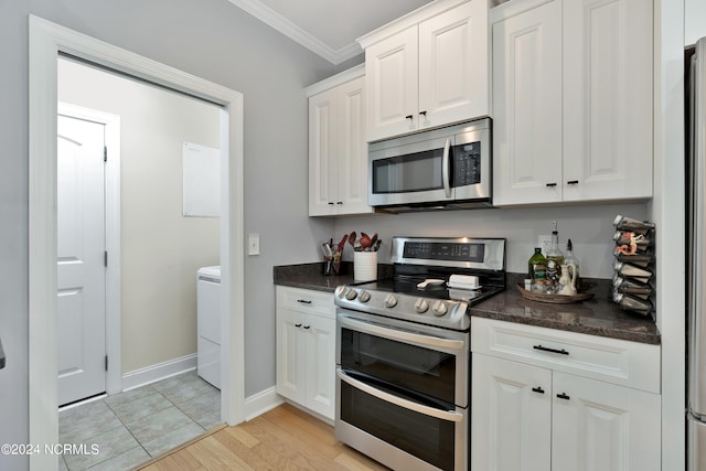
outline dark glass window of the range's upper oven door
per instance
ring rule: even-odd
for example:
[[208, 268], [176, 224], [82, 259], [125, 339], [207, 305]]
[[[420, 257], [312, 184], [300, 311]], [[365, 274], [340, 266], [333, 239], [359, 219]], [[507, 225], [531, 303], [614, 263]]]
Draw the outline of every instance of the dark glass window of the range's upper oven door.
[[456, 356], [341, 329], [341, 366], [456, 404]]

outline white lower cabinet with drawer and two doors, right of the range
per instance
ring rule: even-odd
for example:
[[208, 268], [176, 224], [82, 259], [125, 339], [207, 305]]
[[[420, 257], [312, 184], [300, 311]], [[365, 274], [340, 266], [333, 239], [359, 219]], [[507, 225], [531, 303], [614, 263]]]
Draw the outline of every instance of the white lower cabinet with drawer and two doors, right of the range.
[[[489, 320], [475, 322], [477, 318], [473, 321], [483, 325], [475, 329], [472, 323], [472, 335], [477, 331], [493, 336], [479, 342], [483, 352], [472, 353], [473, 471], [660, 470], [659, 393], [580, 375], [586, 358], [596, 357], [588, 351], [608, 351], [610, 342], [600, 339], [593, 343], [592, 335], [567, 333], [569, 340], [560, 343], [561, 333], [549, 329]], [[511, 328], [505, 330], [504, 324]], [[541, 345], [544, 350], [538, 353], [546, 357], [526, 355], [524, 345], [513, 347], [506, 334]], [[494, 341], [503, 336], [501, 342]], [[657, 345], [619, 340], [612, 351], [621, 354], [633, 344], [639, 351], [648, 346], [649, 352], [656, 349], [659, 353]], [[579, 346], [584, 350], [577, 350]], [[509, 360], [512, 355], [518, 361]], [[552, 355], [558, 356], [556, 363]], [[573, 362], [576, 374], [567, 372]], [[659, 362], [654, 367], [659, 371]], [[608, 367], [605, 372], [599, 367], [591, 370], [610, 377]], [[652, 383], [639, 377], [629, 381]]]

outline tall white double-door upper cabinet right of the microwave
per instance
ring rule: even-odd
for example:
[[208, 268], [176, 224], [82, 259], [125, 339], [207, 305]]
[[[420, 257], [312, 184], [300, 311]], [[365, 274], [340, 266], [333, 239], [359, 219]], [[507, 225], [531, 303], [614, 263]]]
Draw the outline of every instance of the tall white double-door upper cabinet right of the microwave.
[[652, 1], [533, 4], [494, 12], [493, 203], [651, 197]]

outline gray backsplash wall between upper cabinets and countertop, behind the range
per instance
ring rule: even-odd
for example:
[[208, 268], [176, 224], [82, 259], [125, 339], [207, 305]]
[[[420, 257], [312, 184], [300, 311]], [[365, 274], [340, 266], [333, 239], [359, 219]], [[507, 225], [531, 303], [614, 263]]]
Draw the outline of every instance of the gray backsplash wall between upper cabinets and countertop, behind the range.
[[[612, 222], [617, 214], [649, 218], [644, 203], [375, 214], [341, 217], [336, 220], [331, 236], [340, 240], [343, 234], [352, 231], [359, 236], [361, 232], [370, 235], [377, 232], [383, 239], [379, 263], [389, 263], [391, 238], [397, 235], [505, 237], [506, 270], [521, 274], [527, 270], [527, 259], [537, 246], [537, 236], [549, 235], [552, 222], [556, 221], [559, 246], [566, 250], [566, 242], [571, 239], [581, 275], [609, 279], [613, 274]], [[343, 259], [353, 259], [349, 245], [343, 251]]]

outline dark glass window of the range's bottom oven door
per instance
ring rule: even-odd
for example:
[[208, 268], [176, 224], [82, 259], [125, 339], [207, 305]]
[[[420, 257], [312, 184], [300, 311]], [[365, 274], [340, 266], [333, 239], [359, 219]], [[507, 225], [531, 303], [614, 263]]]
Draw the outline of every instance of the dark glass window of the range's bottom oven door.
[[341, 382], [341, 420], [442, 470], [453, 469], [452, 421], [425, 416]]

